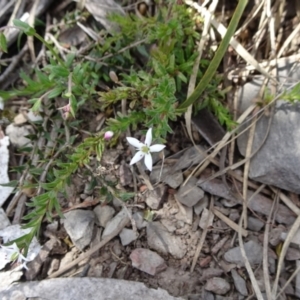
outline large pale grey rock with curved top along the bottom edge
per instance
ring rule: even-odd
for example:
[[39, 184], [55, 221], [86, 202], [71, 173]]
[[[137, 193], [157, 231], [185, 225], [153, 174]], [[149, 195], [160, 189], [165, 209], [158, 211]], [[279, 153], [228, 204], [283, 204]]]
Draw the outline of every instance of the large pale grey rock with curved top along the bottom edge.
[[109, 278], [56, 278], [17, 284], [0, 292], [2, 300], [183, 300], [165, 290], [149, 289], [143, 283]]

